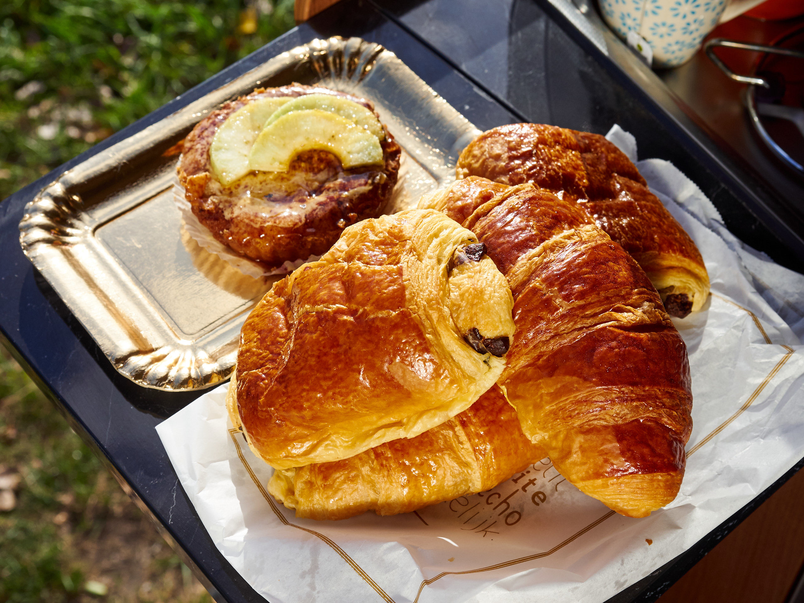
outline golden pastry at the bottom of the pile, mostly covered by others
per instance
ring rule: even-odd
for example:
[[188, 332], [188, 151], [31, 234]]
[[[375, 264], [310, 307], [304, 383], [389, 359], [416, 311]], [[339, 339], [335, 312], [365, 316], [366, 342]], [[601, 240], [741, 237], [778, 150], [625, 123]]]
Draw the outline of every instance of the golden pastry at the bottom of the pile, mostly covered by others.
[[341, 461], [277, 470], [268, 491], [297, 517], [396, 515], [490, 490], [545, 456], [494, 385], [464, 412], [411, 439]]

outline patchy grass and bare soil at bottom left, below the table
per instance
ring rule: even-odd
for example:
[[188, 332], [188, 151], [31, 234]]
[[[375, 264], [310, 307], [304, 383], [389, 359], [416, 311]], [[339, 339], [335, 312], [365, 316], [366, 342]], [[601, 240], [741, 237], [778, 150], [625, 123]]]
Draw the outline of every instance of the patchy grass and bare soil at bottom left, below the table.
[[211, 603], [2, 347], [0, 459], [0, 475], [22, 478], [16, 506], [0, 512], [2, 603], [96, 601], [90, 580], [109, 586], [110, 601]]

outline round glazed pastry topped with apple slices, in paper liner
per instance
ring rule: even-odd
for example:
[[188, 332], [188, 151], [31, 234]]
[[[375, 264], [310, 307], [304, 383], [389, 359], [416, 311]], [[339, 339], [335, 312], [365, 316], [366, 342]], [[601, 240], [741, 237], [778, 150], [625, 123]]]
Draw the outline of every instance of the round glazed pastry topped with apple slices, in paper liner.
[[379, 215], [400, 152], [368, 100], [321, 86], [257, 88], [195, 125], [178, 178], [216, 240], [275, 267], [320, 255], [343, 228]]

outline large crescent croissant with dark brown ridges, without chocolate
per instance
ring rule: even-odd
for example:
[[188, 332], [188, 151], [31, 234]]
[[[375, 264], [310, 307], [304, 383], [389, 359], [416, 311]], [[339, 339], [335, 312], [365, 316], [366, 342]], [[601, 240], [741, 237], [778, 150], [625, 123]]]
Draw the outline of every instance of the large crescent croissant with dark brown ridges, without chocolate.
[[614, 511], [670, 503], [691, 431], [687, 348], [634, 259], [578, 203], [469, 177], [420, 200], [470, 228], [514, 295], [498, 379], [523, 433]]

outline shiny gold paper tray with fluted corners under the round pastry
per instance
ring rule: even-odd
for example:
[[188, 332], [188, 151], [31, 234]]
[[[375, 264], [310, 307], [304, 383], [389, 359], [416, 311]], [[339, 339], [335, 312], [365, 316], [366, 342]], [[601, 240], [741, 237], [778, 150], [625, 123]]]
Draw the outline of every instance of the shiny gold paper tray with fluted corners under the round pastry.
[[245, 276], [187, 236], [173, 201], [177, 158], [164, 152], [221, 103], [293, 81], [375, 103], [403, 149], [397, 209], [449, 183], [479, 133], [379, 44], [316, 39], [61, 174], [28, 203], [20, 244], [135, 383], [186, 390], [227, 379], [240, 327], [279, 278]]

